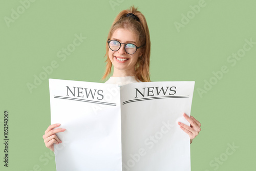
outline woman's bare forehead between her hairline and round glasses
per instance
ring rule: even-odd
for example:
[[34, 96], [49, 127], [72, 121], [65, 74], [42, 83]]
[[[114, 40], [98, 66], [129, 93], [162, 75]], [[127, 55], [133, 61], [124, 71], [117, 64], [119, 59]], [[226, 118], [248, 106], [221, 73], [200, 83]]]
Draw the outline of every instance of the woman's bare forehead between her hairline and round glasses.
[[123, 43], [126, 42], [134, 42], [137, 43], [138, 42], [138, 36], [136, 36], [133, 32], [131, 32], [130, 30], [127, 29], [116, 29], [112, 36], [111, 39], [117, 39], [120, 40]]

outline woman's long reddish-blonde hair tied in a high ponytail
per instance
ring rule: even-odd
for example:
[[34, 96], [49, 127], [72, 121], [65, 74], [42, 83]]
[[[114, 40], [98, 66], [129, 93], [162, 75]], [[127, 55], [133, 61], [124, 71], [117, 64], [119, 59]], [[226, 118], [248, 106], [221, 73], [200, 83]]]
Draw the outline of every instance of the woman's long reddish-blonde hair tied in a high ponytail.
[[[139, 21], [133, 17], [126, 17], [126, 15], [129, 13], [136, 15]], [[138, 61], [135, 65], [135, 76], [142, 82], [150, 82], [150, 31], [148, 30], [145, 16], [134, 6], [132, 6], [130, 9], [121, 11], [115, 18], [110, 28], [108, 38], [106, 39], [106, 69], [102, 79], [108, 77], [108, 75], [111, 73], [112, 67], [112, 63], [109, 58], [108, 40], [111, 39], [113, 33], [119, 28], [127, 29], [133, 32], [135, 35], [137, 35], [140, 45], [144, 45], [141, 48], [142, 56], [138, 58]]]

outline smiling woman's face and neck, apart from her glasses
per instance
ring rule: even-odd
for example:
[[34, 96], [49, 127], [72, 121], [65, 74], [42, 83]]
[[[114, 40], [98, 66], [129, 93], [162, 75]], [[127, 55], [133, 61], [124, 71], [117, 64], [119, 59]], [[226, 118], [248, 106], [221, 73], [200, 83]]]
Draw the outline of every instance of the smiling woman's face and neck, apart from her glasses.
[[121, 47], [118, 51], [112, 51], [109, 49], [109, 58], [114, 66], [114, 77], [120, 76], [135, 76], [135, 65], [139, 56], [142, 56], [141, 48], [130, 55], [124, 50], [124, 44], [134, 44], [137, 47], [141, 46], [137, 40], [138, 38], [130, 31], [126, 29], [117, 29], [110, 40], [118, 40]]

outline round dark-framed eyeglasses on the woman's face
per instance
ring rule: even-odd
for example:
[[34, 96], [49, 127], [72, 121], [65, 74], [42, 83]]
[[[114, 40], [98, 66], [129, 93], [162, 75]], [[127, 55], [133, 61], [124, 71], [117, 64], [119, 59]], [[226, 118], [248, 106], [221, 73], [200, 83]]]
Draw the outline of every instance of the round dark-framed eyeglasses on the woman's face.
[[[118, 51], [121, 48], [122, 44], [123, 44], [123, 43], [121, 43], [121, 42], [119, 42], [117, 40], [109, 40], [108, 43], [109, 43], [109, 48], [112, 51]], [[134, 44], [124, 44], [124, 50], [125, 50], [125, 52], [127, 54], [132, 55], [132, 54], [134, 54], [137, 51], [137, 49], [139, 49], [139, 48], [141, 48], [143, 46], [144, 45], [142, 45], [140, 47], [137, 47]]]

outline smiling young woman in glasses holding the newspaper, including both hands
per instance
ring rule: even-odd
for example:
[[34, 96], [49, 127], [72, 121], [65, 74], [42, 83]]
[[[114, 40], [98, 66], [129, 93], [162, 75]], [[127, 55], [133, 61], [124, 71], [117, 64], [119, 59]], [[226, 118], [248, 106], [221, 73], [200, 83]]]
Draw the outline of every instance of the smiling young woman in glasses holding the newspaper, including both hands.
[[[109, 76], [113, 66], [113, 76], [105, 83], [123, 86], [133, 82], [150, 81], [150, 32], [144, 15], [134, 6], [121, 11], [111, 26], [106, 40], [106, 71], [103, 79]], [[193, 116], [183, 114], [190, 123], [187, 126], [178, 122], [181, 129], [190, 137], [190, 143], [201, 131], [201, 123]], [[48, 148], [54, 151], [53, 144], [61, 143], [56, 133], [65, 129], [55, 129], [60, 124], [52, 124], [42, 136]]]

